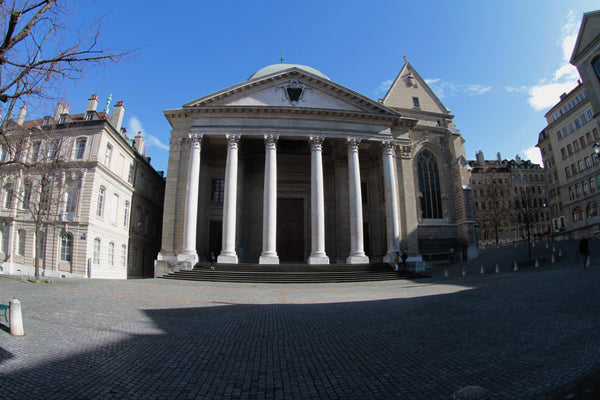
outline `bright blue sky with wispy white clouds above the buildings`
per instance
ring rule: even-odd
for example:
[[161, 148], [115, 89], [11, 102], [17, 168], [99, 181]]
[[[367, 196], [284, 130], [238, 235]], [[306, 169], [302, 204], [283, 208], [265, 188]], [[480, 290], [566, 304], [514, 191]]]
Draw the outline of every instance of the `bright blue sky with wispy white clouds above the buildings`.
[[[317, 68], [373, 99], [407, 55], [455, 115], [468, 159], [482, 150], [487, 159], [500, 152], [536, 160], [529, 149], [544, 113], [579, 78], [568, 59], [582, 14], [596, 9], [591, 0], [97, 1], [78, 21], [101, 16], [105, 48], [139, 51], [66, 82], [61, 93], [72, 113], [93, 93], [100, 110], [109, 94], [111, 110], [124, 100], [128, 133], [142, 131], [152, 164], [166, 171], [162, 111], [242, 82], [282, 51], [286, 63]], [[33, 111], [48, 115], [53, 104]]]

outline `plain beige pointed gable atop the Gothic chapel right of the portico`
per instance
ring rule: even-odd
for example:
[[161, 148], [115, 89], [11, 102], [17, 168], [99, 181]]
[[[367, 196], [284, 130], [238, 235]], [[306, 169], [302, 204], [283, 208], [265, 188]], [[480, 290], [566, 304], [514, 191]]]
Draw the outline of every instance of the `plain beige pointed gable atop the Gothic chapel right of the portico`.
[[383, 98], [383, 104], [395, 109], [416, 112], [440, 114], [450, 112], [409, 62], [404, 64], [396, 76]]

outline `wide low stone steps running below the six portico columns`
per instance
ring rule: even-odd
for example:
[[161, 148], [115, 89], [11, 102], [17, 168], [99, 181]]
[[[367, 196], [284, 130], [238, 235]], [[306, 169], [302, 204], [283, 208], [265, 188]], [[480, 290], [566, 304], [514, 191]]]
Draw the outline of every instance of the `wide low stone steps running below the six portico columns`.
[[164, 279], [209, 282], [332, 283], [418, 279], [428, 275], [394, 271], [389, 264], [214, 264], [199, 263], [193, 270], [178, 271]]

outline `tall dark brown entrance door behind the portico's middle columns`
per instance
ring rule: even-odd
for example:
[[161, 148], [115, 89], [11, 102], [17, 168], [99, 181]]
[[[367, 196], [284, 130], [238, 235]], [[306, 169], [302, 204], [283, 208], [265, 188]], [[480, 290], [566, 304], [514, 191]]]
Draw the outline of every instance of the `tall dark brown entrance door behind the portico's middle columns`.
[[304, 199], [277, 199], [277, 253], [281, 261], [304, 261]]

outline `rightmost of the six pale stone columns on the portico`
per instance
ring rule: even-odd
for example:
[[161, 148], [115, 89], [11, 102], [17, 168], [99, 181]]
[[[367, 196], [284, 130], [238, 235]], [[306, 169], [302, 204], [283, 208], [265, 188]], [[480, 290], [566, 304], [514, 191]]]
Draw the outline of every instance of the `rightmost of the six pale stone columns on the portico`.
[[383, 142], [383, 185], [385, 192], [385, 216], [387, 222], [387, 256], [394, 261], [400, 246], [400, 213], [398, 210], [398, 181], [394, 168], [394, 143]]

